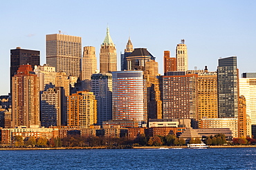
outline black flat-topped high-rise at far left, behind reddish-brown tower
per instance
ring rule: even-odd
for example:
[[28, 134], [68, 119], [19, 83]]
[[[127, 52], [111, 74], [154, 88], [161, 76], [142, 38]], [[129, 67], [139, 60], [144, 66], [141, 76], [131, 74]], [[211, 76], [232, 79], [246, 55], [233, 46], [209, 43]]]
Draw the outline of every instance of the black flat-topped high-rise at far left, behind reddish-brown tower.
[[10, 92], [12, 92], [12, 76], [17, 74], [20, 65], [40, 65], [40, 52], [37, 50], [25, 50], [21, 47], [10, 50]]

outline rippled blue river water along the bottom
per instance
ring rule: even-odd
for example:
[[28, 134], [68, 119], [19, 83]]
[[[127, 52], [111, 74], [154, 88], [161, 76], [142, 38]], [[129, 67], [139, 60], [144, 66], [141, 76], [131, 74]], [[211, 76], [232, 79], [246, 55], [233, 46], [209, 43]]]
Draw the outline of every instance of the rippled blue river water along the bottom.
[[11, 150], [0, 169], [256, 169], [256, 148]]

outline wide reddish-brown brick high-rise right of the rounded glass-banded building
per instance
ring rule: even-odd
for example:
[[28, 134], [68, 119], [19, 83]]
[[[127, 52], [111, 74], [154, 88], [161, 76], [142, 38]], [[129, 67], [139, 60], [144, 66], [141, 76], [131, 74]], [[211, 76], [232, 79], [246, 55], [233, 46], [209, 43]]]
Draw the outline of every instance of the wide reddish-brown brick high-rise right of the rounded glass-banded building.
[[[161, 76], [163, 118], [189, 118], [198, 120], [197, 74]], [[192, 127], [197, 127], [193, 124]]]

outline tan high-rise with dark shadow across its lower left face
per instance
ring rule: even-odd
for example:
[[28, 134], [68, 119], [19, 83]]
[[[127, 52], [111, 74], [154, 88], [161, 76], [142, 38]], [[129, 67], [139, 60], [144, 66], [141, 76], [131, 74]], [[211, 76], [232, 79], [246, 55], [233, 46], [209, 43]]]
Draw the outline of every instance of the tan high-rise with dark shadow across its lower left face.
[[41, 94], [41, 125], [43, 127], [61, 126], [66, 115], [63, 87], [48, 88]]

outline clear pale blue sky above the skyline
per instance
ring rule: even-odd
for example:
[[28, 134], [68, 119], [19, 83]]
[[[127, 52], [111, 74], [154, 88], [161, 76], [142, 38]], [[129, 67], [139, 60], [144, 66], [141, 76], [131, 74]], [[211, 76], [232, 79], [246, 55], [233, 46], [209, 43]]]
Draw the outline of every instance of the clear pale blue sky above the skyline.
[[[237, 56], [239, 74], [256, 72], [256, 1], [1, 1], [0, 95], [10, 90], [10, 50], [39, 50], [46, 63], [46, 34], [81, 36], [82, 47], [94, 46], [99, 63], [100, 44], [107, 25], [118, 54], [131, 37], [156, 57], [163, 74], [163, 51], [181, 39], [188, 47], [188, 67], [216, 71], [218, 59]], [[99, 65], [99, 64], [98, 64]], [[99, 69], [99, 67], [98, 67]]]

